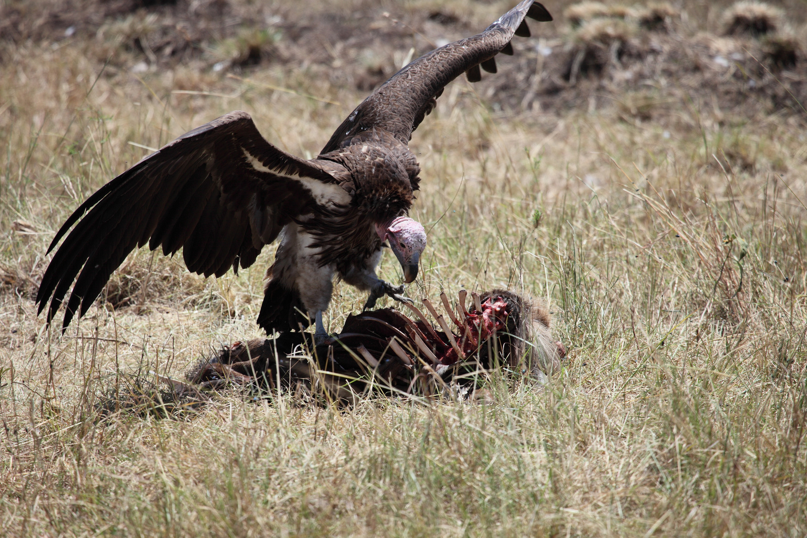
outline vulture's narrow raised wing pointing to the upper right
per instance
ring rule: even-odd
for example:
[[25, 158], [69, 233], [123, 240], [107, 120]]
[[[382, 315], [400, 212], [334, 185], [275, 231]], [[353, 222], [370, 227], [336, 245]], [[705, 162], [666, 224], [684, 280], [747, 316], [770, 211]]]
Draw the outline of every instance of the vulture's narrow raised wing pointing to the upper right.
[[420, 56], [357, 106], [320, 154], [332, 152], [343, 140], [371, 127], [389, 131], [407, 144], [412, 131], [432, 111], [445, 85], [462, 73], [466, 73], [471, 82], [479, 81], [480, 65], [485, 71], [495, 73], [493, 56], [499, 52], [512, 54], [510, 40], [513, 35], [529, 37], [525, 16], [541, 22], [552, 20], [552, 15], [541, 3], [523, 0], [481, 34], [454, 41]]

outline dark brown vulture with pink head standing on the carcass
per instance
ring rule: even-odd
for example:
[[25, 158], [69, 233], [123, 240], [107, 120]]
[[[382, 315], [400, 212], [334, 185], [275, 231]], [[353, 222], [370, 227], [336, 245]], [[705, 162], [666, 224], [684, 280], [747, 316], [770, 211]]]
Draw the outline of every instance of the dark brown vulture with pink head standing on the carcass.
[[189, 271], [220, 277], [252, 265], [278, 238], [257, 318], [267, 333], [302, 330], [313, 320], [316, 341], [328, 340], [322, 313], [334, 276], [369, 292], [365, 309], [384, 295], [407, 301], [403, 284], [378, 278], [375, 267], [388, 241], [403, 282], [413, 282], [426, 246], [424, 227], [407, 216], [420, 183], [408, 148], [412, 131], [454, 78], [479, 81], [480, 67], [496, 72], [494, 56], [512, 55], [512, 36], [530, 35], [525, 17], [552, 20], [541, 3], [523, 0], [482, 33], [420, 56], [359, 104], [314, 159], [276, 148], [242, 111], [144, 157], [56, 232], [48, 252], [67, 237], [42, 278], [39, 313], [49, 301], [50, 323], [75, 281], [64, 331], [145, 244], [166, 256], [182, 248]]

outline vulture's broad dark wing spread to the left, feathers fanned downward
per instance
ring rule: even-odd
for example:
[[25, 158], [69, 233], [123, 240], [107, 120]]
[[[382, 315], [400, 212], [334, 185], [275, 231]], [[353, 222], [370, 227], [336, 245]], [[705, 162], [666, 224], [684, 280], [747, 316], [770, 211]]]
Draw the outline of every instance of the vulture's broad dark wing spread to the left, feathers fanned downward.
[[45, 271], [39, 311], [52, 297], [50, 322], [78, 275], [67, 327], [129, 252], [147, 242], [165, 255], [183, 248], [187, 268], [206, 277], [249, 267], [291, 219], [346, 196], [316, 163], [266, 142], [249, 114], [231, 112], [145, 157], [73, 212], [48, 248], [76, 224]]

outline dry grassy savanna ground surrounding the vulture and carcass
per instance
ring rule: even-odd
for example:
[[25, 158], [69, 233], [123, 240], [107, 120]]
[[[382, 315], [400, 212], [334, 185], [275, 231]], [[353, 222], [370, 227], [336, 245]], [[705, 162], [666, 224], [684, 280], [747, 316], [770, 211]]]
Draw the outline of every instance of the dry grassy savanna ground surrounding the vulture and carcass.
[[[315, 155], [408, 57], [513, 2], [164, 3], [2, 6], [0, 534], [805, 536], [803, 2], [728, 36], [719, 2], [577, 27], [547, 2], [554, 23], [415, 132], [410, 294], [545, 298], [570, 350], [549, 385], [99, 420], [136, 374], [260, 336], [274, 249], [218, 280], [134, 252], [62, 335], [32, 297], [78, 203], [231, 110]], [[391, 256], [381, 273], [399, 280]], [[331, 329], [363, 299], [337, 286]]]

